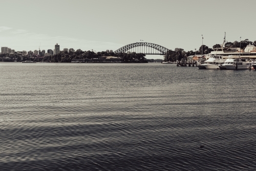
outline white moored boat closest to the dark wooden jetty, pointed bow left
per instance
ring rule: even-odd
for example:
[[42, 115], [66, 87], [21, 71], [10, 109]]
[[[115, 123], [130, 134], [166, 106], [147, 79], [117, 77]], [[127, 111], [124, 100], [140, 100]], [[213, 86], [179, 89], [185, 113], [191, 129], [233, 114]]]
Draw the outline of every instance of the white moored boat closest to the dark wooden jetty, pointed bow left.
[[219, 65], [225, 62], [222, 56], [210, 56], [204, 63], [198, 65], [199, 69], [220, 69]]

